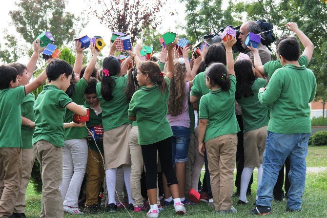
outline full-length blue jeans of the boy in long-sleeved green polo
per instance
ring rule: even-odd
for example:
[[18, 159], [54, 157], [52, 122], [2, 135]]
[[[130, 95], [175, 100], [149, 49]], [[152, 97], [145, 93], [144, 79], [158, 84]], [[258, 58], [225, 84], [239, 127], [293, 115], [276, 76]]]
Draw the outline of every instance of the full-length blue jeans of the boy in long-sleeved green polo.
[[264, 172], [258, 188], [257, 205], [271, 207], [273, 188], [276, 184], [279, 170], [286, 157], [290, 161], [287, 207], [300, 210], [302, 196], [306, 184], [306, 156], [310, 133], [278, 134], [267, 133], [266, 150], [263, 157]]

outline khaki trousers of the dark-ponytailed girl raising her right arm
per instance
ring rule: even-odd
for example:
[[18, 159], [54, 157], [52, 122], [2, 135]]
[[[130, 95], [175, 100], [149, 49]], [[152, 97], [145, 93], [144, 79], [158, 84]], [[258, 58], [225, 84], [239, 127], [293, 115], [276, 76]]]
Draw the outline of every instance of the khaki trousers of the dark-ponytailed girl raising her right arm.
[[232, 207], [236, 148], [236, 134], [221, 135], [205, 143], [216, 211], [230, 210]]

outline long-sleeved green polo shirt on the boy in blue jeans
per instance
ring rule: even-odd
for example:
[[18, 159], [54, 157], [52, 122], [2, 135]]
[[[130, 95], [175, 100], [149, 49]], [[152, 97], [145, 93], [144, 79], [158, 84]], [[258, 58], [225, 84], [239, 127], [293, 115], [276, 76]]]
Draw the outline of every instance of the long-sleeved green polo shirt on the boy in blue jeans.
[[268, 131], [311, 132], [309, 103], [315, 94], [316, 78], [304, 65], [284, 65], [276, 70], [266, 90], [258, 94], [262, 105], [271, 106]]

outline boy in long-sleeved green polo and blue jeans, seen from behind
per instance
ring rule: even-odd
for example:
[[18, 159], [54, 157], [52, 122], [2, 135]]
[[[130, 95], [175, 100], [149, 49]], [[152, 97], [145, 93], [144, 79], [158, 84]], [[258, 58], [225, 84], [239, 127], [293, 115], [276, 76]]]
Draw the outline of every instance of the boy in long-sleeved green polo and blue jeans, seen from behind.
[[316, 78], [299, 65], [300, 45], [292, 38], [277, 47], [282, 68], [277, 69], [266, 88], [258, 93], [262, 105], [270, 106], [270, 120], [263, 157], [263, 176], [252, 214], [271, 212], [273, 188], [286, 157], [290, 160], [291, 187], [287, 210], [300, 211], [306, 182], [306, 156], [311, 134], [310, 106], [316, 94]]

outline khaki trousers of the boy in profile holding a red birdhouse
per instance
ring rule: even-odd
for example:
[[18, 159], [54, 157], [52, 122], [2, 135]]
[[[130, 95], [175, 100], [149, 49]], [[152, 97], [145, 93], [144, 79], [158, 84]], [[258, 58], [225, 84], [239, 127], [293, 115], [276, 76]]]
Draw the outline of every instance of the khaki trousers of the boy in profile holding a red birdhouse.
[[59, 186], [62, 182], [62, 147], [45, 140], [33, 145], [41, 166], [42, 197], [40, 218], [63, 218], [63, 205]]

